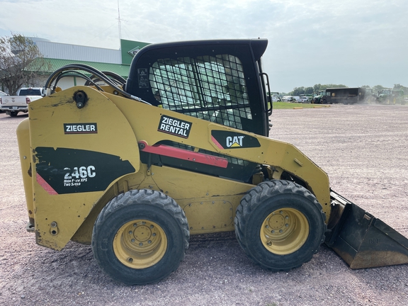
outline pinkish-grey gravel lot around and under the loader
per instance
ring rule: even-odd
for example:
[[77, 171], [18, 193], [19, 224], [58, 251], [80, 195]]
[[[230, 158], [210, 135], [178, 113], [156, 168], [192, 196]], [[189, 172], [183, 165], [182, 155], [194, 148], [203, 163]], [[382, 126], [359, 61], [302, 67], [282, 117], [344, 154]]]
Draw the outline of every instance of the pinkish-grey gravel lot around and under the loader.
[[[105, 276], [90, 246], [37, 246], [25, 229], [15, 133], [24, 118], [0, 114], [1, 305], [408, 305], [408, 265], [353, 271], [327, 246], [301, 268], [272, 273], [246, 258], [234, 234], [192, 237], [170, 278], [140, 287]], [[277, 110], [272, 120], [271, 137], [292, 142], [334, 191], [408, 237], [407, 106]]]

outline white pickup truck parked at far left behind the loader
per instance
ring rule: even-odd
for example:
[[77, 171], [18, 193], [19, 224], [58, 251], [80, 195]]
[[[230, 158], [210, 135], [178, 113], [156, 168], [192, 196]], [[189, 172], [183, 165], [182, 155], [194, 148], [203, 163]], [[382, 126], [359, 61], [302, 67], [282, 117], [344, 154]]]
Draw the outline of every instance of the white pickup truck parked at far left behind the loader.
[[0, 109], [7, 115], [15, 117], [19, 112], [28, 112], [28, 103], [41, 98], [42, 87], [23, 87], [18, 89], [17, 96], [1, 96]]

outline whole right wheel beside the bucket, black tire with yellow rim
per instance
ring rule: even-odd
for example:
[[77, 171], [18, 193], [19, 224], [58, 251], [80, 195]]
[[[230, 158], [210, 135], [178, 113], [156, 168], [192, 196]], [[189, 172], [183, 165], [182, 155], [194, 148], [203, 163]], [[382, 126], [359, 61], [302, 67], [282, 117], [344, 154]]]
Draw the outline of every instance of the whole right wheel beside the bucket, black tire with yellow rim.
[[234, 220], [239, 244], [251, 260], [272, 271], [310, 261], [324, 242], [326, 215], [306, 188], [265, 181], [242, 198]]

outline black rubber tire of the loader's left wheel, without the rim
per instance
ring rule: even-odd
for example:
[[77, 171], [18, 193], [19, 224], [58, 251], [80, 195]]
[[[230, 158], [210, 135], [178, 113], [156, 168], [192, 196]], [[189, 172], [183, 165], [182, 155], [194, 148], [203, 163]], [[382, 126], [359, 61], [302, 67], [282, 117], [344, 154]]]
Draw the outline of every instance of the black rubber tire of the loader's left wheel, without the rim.
[[[147, 219], [156, 222], [168, 241], [163, 258], [142, 269], [123, 265], [113, 251], [116, 232], [126, 222]], [[149, 189], [132, 190], [113, 198], [98, 215], [92, 233], [92, 251], [98, 266], [126, 285], [157, 283], [176, 271], [188, 249], [190, 232], [186, 215], [173, 198]]]

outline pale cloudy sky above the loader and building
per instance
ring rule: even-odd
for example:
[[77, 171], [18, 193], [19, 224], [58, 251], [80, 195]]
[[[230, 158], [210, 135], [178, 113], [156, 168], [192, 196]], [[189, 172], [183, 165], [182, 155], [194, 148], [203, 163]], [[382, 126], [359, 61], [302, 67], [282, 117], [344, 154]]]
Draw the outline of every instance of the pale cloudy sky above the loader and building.
[[407, 0], [0, 0], [0, 8], [0, 37], [116, 50], [119, 33], [142, 42], [267, 38], [271, 91], [408, 86]]

